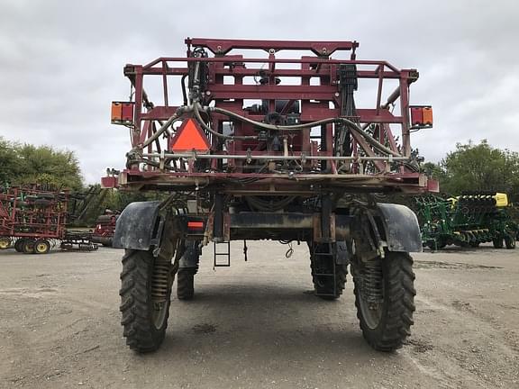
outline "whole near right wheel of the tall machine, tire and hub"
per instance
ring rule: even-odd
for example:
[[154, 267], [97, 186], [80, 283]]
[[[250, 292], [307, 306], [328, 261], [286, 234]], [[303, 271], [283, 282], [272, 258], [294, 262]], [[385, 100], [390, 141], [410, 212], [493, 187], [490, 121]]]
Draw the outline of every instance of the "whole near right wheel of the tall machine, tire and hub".
[[393, 351], [402, 347], [414, 324], [413, 258], [387, 252], [369, 262], [351, 264], [360, 330], [372, 348]]

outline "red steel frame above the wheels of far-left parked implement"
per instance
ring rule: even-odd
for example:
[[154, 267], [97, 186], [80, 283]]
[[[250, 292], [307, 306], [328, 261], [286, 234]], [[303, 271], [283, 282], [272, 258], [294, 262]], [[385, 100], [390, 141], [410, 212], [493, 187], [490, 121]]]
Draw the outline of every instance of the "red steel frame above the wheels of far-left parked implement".
[[0, 194], [0, 237], [56, 239], [65, 237], [68, 191], [54, 193], [46, 207], [20, 207], [20, 198], [50, 193], [37, 185], [13, 186]]

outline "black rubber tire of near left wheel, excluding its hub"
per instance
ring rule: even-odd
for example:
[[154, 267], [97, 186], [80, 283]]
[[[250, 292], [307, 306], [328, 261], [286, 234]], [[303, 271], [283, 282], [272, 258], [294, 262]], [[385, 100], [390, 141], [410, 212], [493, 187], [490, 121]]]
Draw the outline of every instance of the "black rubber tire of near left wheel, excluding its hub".
[[164, 340], [168, 327], [171, 290], [166, 303], [159, 310], [161, 318], [155, 322], [156, 311], [151, 298], [155, 258], [150, 251], [126, 249], [121, 273], [121, 307], [123, 336], [132, 350], [144, 353], [155, 351]]

